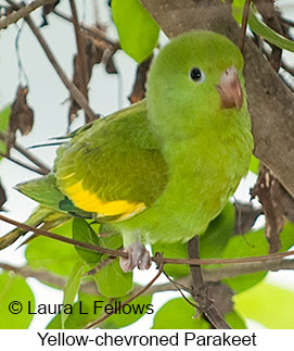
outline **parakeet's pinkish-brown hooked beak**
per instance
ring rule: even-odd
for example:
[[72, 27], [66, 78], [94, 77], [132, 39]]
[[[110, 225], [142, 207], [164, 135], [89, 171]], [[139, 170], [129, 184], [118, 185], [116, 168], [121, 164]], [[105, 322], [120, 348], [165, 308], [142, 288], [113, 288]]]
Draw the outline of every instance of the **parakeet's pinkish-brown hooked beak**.
[[240, 110], [243, 104], [243, 91], [234, 66], [227, 68], [219, 80], [217, 90], [220, 95], [221, 109]]

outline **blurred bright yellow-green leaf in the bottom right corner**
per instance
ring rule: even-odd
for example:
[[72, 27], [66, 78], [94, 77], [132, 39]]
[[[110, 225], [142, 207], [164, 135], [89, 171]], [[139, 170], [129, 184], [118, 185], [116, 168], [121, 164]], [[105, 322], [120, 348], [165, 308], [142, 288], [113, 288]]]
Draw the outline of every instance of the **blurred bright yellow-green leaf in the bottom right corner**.
[[270, 329], [294, 328], [294, 291], [261, 283], [234, 297], [235, 309]]

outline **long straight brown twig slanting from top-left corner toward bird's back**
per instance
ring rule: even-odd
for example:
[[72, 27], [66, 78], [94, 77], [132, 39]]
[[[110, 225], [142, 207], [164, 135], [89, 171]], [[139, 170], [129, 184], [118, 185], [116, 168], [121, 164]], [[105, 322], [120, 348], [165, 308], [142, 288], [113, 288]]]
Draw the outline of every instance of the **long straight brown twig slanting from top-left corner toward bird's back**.
[[[12, 0], [5, 0], [13, 9], [18, 9], [18, 4], [16, 4]], [[26, 23], [30, 27], [31, 32], [35, 34], [36, 38], [38, 39], [40, 46], [42, 47], [48, 60], [51, 62], [52, 66], [54, 67], [55, 72], [60, 76], [62, 83], [68, 89], [73, 98], [79, 104], [79, 106], [85, 110], [86, 114], [91, 117], [91, 120], [95, 120], [97, 114], [91, 110], [88, 104], [86, 97], [79, 91], [79, 89], [66, 77], [64, 71], [62, 70], [61, 65], [57, 63], [55, 57], [53, 55], [51, 49], [47, 45], [43, 36], [41, 35], [39, 28], [34, 24], [33, 20], [27, 16], [25, 17]]]

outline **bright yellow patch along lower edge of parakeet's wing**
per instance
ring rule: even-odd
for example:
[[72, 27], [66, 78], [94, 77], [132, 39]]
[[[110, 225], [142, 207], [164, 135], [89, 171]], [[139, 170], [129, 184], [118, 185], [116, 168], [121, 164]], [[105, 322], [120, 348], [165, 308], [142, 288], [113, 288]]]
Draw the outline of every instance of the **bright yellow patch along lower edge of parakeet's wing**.
[[100, 217], [119, 216], [116, 221], [123, 221], [146, 209], [143, 202], [102, 200], [95, 193], [84, 189], [81, 181], [66, 187], [65, 192], [77, 208], [87, 212], [97, 213]]

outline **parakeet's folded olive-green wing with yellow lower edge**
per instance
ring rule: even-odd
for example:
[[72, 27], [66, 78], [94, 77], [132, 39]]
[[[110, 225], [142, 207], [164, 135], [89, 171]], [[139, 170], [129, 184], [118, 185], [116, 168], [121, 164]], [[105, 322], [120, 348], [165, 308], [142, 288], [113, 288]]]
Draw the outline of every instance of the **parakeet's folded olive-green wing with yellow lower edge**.
[[145, 102], [76, 133], [55, 163], [57, 186], [75, 206], [104, 222], [151, 206], [167, 183], [167, 165], [149, 128]]

